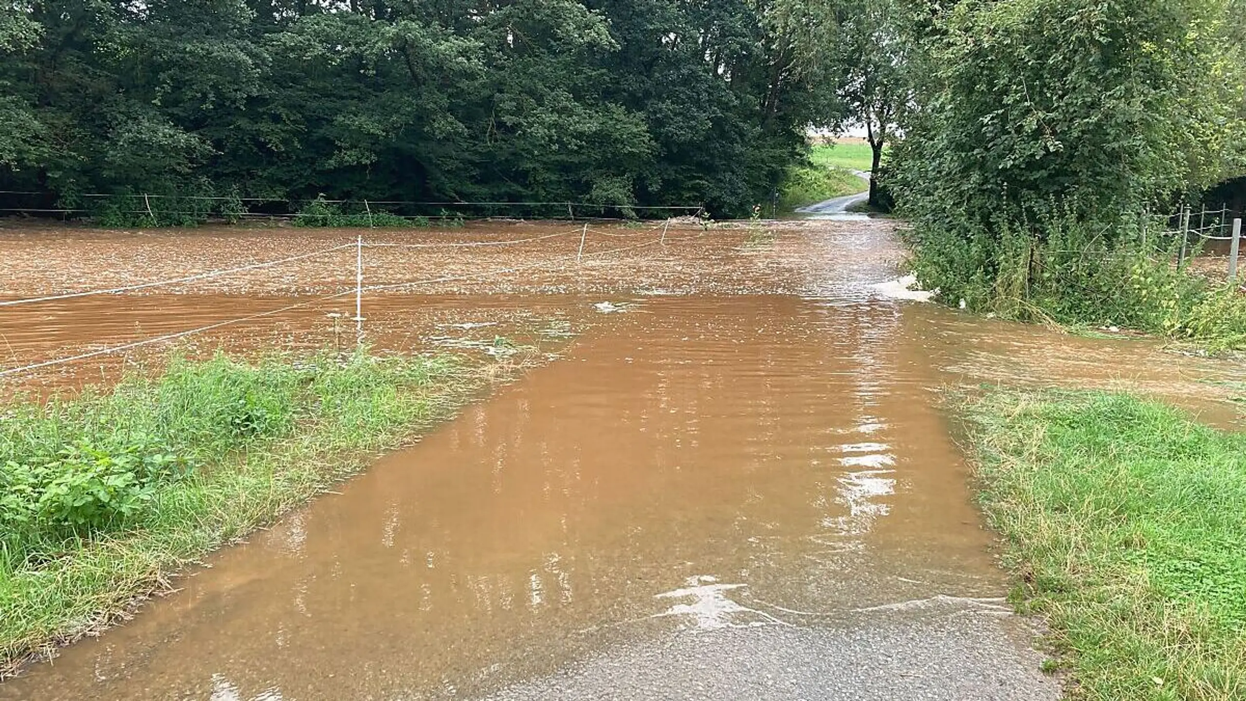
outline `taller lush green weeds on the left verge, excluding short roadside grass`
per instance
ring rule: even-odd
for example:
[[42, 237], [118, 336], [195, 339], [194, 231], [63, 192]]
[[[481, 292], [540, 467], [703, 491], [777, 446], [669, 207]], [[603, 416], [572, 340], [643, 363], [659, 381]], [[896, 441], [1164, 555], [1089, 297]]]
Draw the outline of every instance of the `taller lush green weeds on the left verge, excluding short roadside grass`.
[[300, 380], [278, 364], [174, 359], [158, 382], [131, 378], [108, 395], [14, 407], [0, 428], [0, 523], [10, 526], [0, 546], [29, 556], [130, 525], [159, 485], [288, 434]]

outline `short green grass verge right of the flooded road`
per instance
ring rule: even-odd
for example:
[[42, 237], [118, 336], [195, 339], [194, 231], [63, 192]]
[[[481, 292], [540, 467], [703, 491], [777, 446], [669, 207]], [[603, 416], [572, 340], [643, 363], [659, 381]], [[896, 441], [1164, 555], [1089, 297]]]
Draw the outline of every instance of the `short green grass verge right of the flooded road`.
[[1069, 695], [1246, 699], [1246, 434], [1108, 393], [966, 407], [982, 504]]

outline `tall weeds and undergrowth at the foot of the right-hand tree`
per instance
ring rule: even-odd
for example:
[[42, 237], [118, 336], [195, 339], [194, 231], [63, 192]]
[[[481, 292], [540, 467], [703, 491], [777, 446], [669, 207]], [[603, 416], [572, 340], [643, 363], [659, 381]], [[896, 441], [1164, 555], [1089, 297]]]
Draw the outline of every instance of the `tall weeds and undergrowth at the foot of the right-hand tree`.
[[1028, 227], [1004, 217], [989, 230], [927, 226], [920, 236], [910, 233], [913, 272], [942, 299], [1006, 318], [1116, 326], [1214, 349], [1246, 348], [1246, 296], [1177, 268], [1177, 241], [1158, 248], [1158, 232], [1126, 218], [1135, 221], [1115, 231], [1133, 237], [1116, 242], [1104, 226], [1090, 228], [1069, 215]]

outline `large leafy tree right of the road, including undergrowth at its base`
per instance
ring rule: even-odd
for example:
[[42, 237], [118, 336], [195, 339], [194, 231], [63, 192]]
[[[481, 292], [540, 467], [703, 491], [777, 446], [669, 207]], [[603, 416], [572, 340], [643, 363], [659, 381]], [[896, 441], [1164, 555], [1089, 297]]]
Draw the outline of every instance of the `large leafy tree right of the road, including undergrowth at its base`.
[[1244, 302], [1170, 269], [1138, 212], [1246, 167], [1246, 104], [1225, 89], [1246, 80], [1227, 39], [1242, 21], [1221, 0], [926, 14], [916, 110], [887, 175], [921, 282], [1017, 318], [1240, 346]]

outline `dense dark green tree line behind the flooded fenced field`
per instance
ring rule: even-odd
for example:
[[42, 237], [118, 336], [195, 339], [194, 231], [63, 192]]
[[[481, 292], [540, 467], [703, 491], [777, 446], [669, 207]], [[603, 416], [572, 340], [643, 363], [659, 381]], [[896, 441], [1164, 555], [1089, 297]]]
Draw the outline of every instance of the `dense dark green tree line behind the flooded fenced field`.
[[829, 101], [795, 47], [816, 24], [804, 4], [5, 5], [0, 190], [62, 206], [324, 193], [739, 213]]

